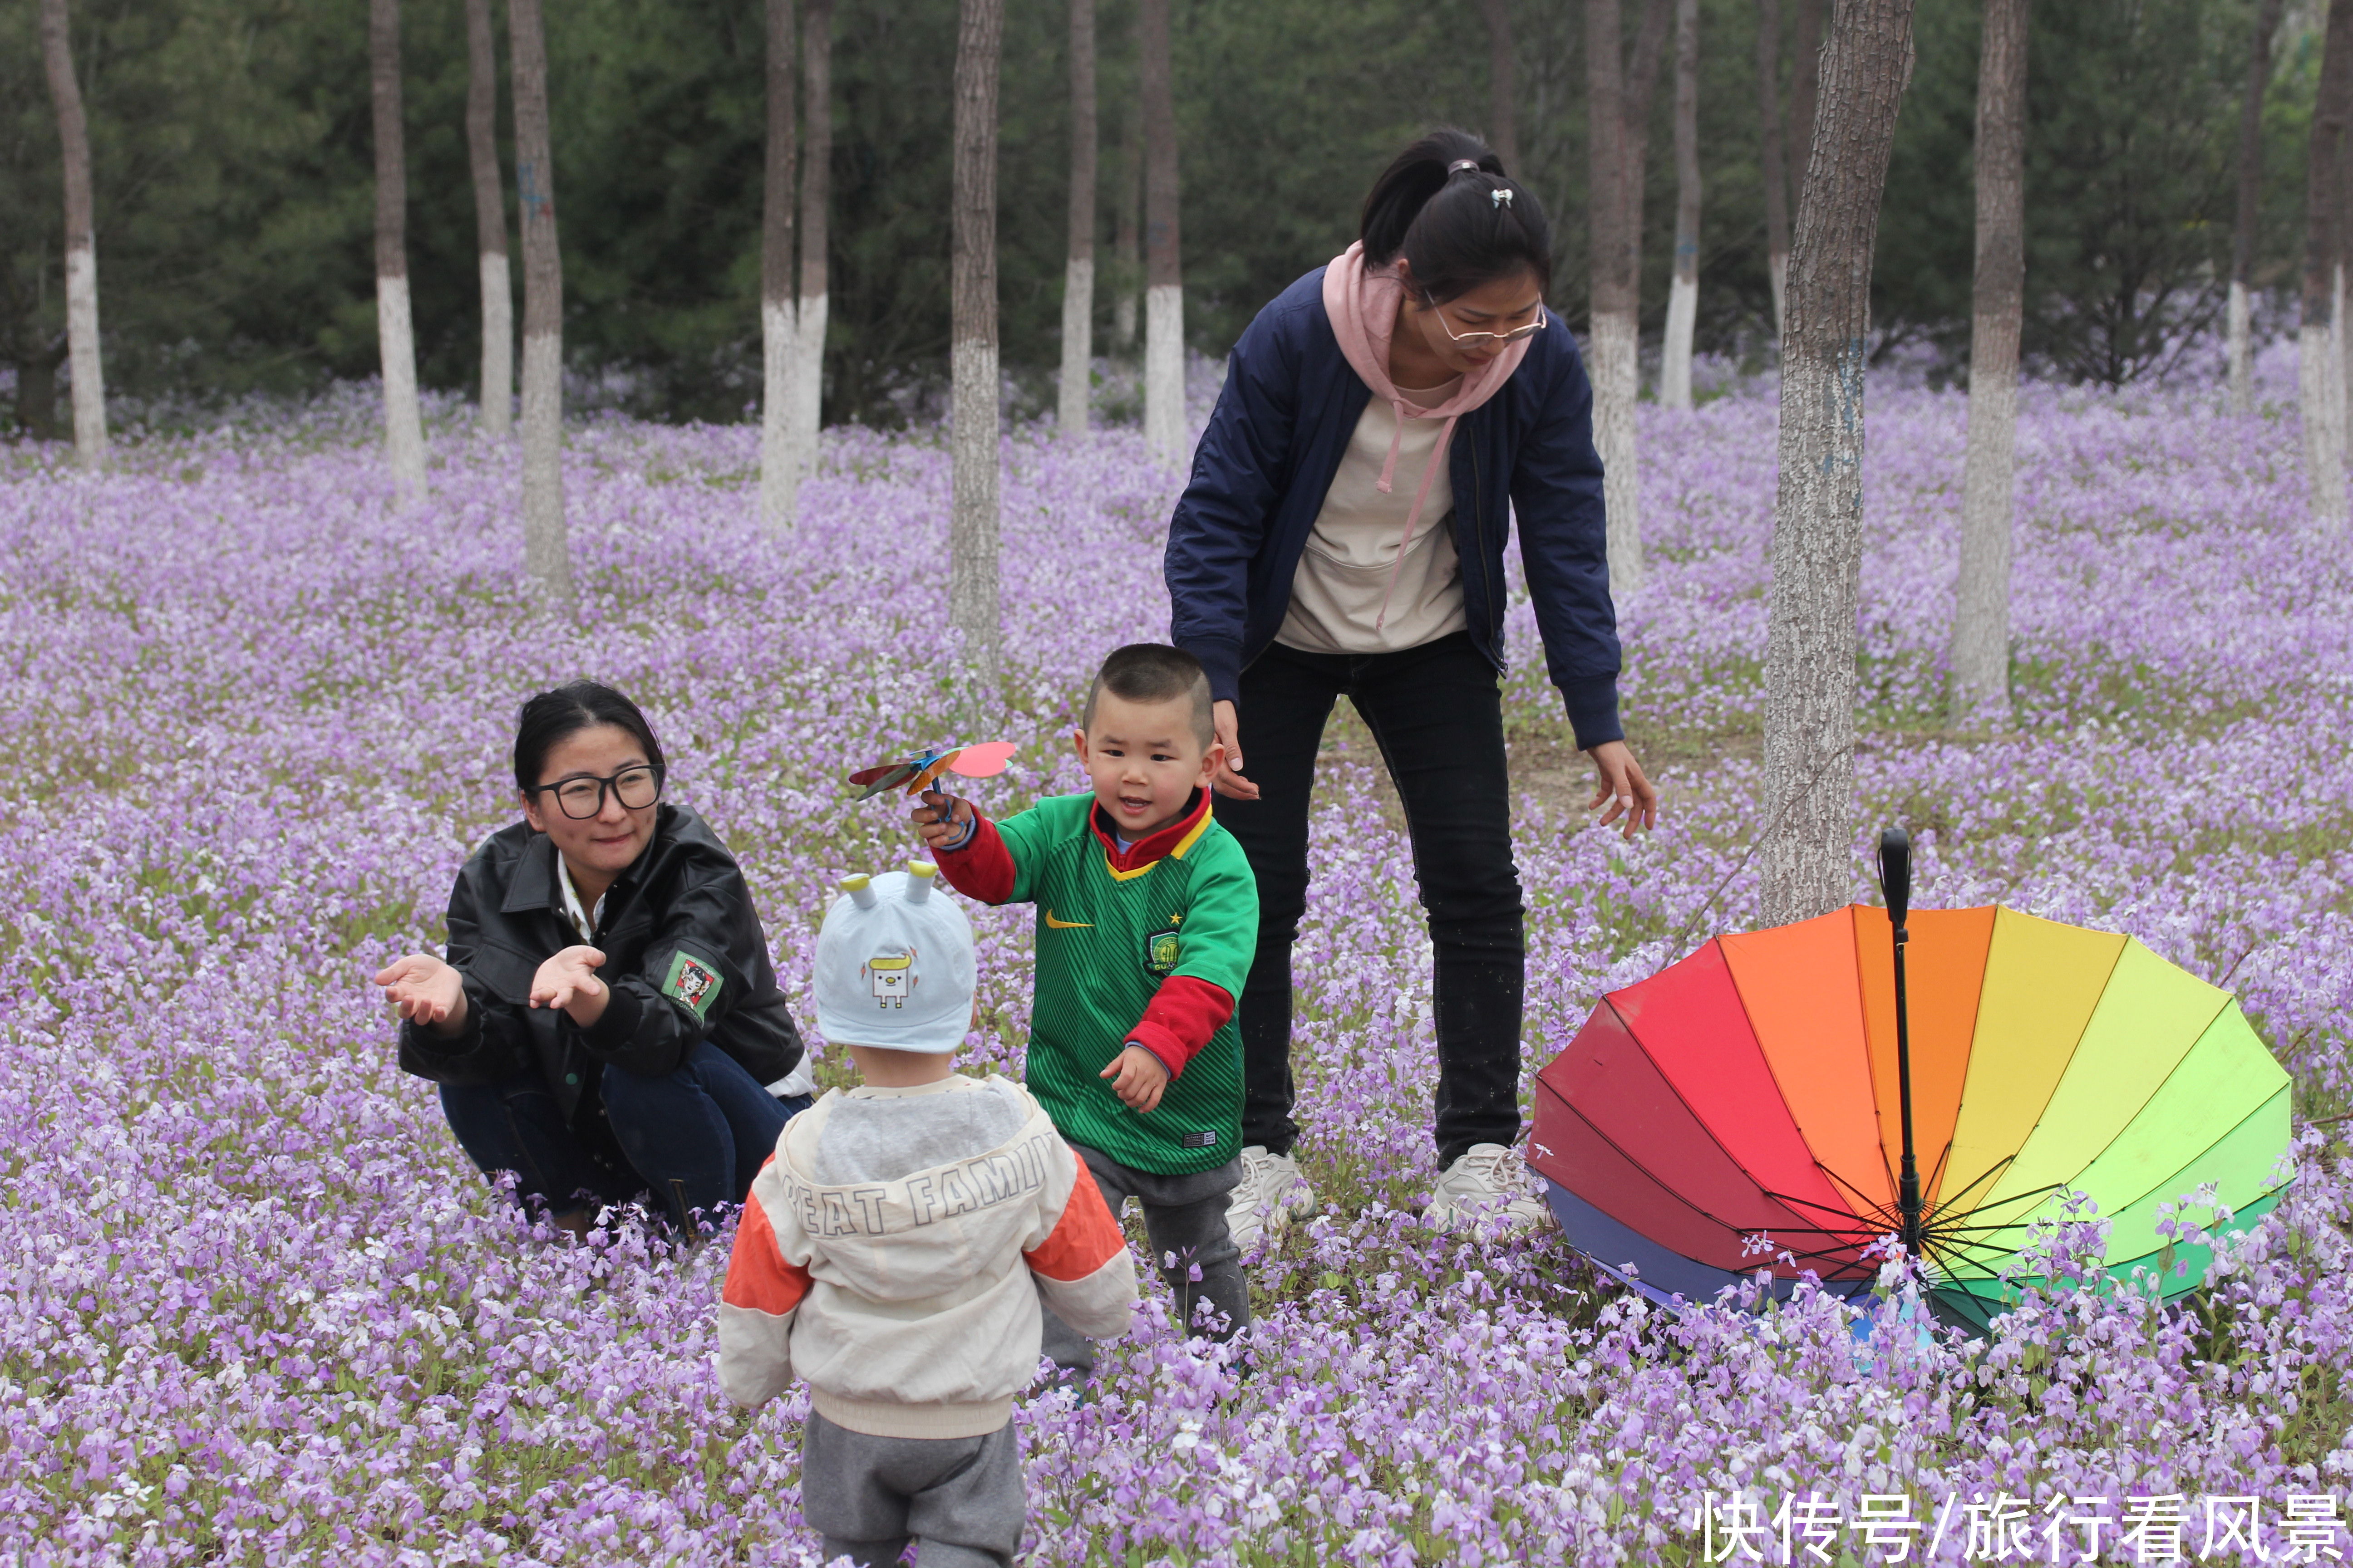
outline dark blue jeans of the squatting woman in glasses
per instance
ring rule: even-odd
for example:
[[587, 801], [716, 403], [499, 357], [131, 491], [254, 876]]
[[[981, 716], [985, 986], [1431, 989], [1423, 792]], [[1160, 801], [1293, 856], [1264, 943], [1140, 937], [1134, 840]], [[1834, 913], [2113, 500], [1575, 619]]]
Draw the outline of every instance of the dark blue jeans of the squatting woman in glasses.
[[442, 1084], [442, 1114], [485, 1175], [515, 1173], [518, 1197], [562, 1211], [584, 1194], [626, 1204], [652, 1192], [656, 1208], [692, 1229], [694, 1211], [744, 1201], [776, 1133], [809, 1107], [807, 1095], [774, 1098], [711, 1041], [664, 1077], [607, 1065], [600, 1086], [628, 1168], [614, 1168], [565, 1126], [536, 1072], [504, 1084]]

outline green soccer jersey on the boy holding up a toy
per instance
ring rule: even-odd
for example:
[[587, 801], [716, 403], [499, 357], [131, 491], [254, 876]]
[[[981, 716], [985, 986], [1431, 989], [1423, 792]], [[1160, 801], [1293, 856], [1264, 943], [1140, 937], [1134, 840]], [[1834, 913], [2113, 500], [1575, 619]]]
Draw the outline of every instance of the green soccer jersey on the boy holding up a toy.
[[1009, 903], [1038, 905], [1028, 1088], [1071, 1143], [1136, 1171], [1209, 1171], [1242, 1140], [1242, 1034], [1231, 1016], [1148, 1117], [1096, 1074], [1169, 976], [1242, 997], [1259, 945], [1259, 884], [1207, 802], [1165, 856], [1132, 870], [1113, 865], [1092, 811], [1092, 792], [1056, 795], [998, 823], [1014, 860]]

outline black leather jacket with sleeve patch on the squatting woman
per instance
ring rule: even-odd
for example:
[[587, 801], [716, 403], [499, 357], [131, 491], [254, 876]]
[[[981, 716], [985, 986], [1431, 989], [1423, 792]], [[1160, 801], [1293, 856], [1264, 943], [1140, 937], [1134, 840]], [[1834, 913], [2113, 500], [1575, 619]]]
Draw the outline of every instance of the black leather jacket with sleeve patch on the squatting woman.
[[760, 1084], [800, 1065], [800, 1030], [776, 990], [751, 889], [704, 818], [664, 804], [654, 842], [607, 889], [595, 947], [612, 1001], [586, 1030], [529, 1006], [539, 966], [579, 943], [562, 907], [555, 844], [529, 823], [501, 827], [466, 858], [449, 891], [449, 966], [466, 976], [466, 1032], [442, 1039], [400, 1025], [405, 1072], [435, 1084], [536, 1072], [574, 1128], [602, 1133], [605, 1063], [661, 1077], [711, 1039]]

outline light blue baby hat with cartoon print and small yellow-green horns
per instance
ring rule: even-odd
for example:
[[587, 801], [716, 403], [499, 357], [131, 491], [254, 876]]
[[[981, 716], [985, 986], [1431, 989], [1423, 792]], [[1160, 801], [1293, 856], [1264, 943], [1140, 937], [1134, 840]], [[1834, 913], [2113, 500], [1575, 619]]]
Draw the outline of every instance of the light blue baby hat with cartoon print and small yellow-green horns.
[[972, 922], [939, 867], [842, 877], [816, 933], [816, 1027], [838, 1046], [958, 1051], [972, 1027]]

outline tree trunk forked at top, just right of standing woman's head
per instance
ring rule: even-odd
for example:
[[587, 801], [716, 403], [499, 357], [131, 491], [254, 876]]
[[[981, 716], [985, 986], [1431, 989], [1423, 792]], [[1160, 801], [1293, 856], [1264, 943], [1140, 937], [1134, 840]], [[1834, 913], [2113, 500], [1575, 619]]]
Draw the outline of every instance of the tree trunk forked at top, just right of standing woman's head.
[[1642, 496], [1633, 409], [1640, 397], [1642, 153], [1649, 82], [1673, 0], [1649, 0], [1633, 73], [1619, 47], [1619, 0], [1586, 0], [1586, 113], [1593, 141], [1593, 447], [1602, 458], [1609, 588], [1642, 585]]

